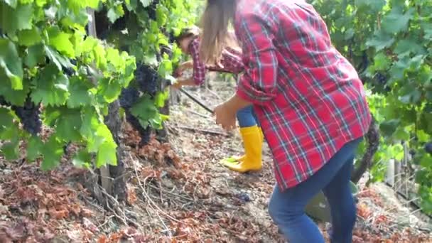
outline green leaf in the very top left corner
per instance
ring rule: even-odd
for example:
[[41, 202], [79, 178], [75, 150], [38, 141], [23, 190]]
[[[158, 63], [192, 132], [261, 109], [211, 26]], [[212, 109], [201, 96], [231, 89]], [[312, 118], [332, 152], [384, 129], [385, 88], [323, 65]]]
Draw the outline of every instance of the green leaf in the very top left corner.
[[32, 28], [33, 21], [32, 4], [18, 4], [16, 8], [0, 2], [0, 28], [14, 36], [15, 31]]

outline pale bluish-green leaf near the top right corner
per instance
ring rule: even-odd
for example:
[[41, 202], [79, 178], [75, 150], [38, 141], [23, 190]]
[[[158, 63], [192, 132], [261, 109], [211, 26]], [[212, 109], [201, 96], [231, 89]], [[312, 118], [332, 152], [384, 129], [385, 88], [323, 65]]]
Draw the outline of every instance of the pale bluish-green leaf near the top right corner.
[[389, 34], [399, 33], [408, 29], [409, 20], [413, 17], [414, 9], [404, 10], [393, 7], [389, 14], [382, 18], [382, 29]]

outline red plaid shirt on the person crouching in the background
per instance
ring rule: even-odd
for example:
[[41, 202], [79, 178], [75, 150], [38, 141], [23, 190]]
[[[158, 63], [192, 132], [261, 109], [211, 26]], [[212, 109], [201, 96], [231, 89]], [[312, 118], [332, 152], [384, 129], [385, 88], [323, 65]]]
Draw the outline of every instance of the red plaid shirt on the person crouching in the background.
[[222, 66], [206, 66], [200, 59], [200, 40], [198, 38], [190, 42], [189, 54], [193, 60], [193, 80], [195, 80], [195, 84], [197, 85], [202, 85], [204, 82], [206, 70], [238, 74], [244, 69], [242, 53], [233, 48], [226, 48], [222, 52], [220, 60]]

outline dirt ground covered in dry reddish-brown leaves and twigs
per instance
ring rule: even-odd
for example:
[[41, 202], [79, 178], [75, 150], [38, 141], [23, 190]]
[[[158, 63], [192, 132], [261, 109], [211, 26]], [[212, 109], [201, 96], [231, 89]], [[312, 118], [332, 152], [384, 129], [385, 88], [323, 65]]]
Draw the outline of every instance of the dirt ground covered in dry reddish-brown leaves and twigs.
[[[234, 90], [234, 82], [214, 80], [212, 90], [190, 90], [210, 107]], [[0, 158], [0, 243], [284, 242], [267, 212], [275, 181], [266, 144], [263, 170], [239, 174], [219, 163], [242, 153], [238, 132], [220, 129], [188, 97], [171, 107], [167, 127], [170, 144], [139, 148], [125, 126], [126, 205], [114, 198], [99, 205], [85, 189], [91, 173], [73, 168], [69, 156], [50, 172]], [[353, 242], [432, 242], [430, 222], [385, 185], [360, 189]], [[319, 225], [327, 237], [329, 225]]]

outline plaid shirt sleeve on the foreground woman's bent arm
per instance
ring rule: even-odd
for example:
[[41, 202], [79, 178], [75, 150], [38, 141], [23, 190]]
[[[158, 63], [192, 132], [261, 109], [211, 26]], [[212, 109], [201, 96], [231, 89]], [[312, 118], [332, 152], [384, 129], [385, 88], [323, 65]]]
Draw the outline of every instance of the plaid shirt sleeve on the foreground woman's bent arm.
[[247, 68], [240, 77], [237, 95], [254, 104], [264, 104], [276, 97], [278, 60], [272, 43], [274, 36], [266, 27], [266, 20], [257, 19], [255, 13], [243, 14], [239, 19], [243, 63]]

